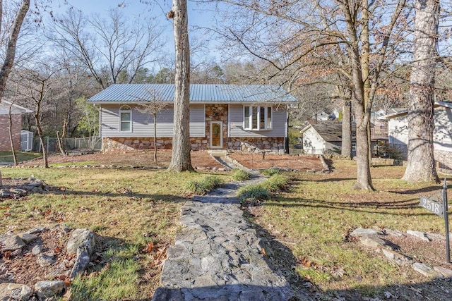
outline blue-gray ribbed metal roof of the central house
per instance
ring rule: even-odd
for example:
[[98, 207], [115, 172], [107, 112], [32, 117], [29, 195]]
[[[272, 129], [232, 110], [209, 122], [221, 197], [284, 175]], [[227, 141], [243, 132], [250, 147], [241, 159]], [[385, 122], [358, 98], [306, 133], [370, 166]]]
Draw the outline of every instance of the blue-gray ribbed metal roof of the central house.
[[[88, 99], [93, 103], [146, 102], [156, 94], [174, 99], [173, 84], [115, 84]], [[190, 102], [297, 102], [278, 85], [190, 85]]]

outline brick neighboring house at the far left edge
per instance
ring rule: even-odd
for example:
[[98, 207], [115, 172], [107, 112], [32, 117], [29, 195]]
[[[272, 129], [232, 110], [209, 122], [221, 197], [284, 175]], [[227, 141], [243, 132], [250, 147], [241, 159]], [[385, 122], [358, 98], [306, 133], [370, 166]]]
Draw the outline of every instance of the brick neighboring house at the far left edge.
[[11, 121], [14, 149], [20, 150], [20, 130], [22, 130], [22, 114], [31, 113], [29, 109], [6, 100], [0, 102], [0, 151], [11, 151], [9, 137], [9, 109], [11, 106]]

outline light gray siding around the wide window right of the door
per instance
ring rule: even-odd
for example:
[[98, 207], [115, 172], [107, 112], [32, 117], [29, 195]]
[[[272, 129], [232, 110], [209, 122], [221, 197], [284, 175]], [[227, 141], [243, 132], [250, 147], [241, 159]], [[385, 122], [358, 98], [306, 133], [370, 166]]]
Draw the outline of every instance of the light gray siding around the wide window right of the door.
[[[284, 105], [280, 105], [278, 109], [277, 106], [273, 106], [270, 113], [270, 123], [273, 125], [271, 130], [245, 130], [245, 114], [246, 111], [244, 110], [244, 105], [229, 105], [229, 137], [287, 137], [287, 111], [285, 111]], [[252, 121], [250, 121], [250, 123], [251, 122]], [[268, 122], [267, 118], [267, 123]]]

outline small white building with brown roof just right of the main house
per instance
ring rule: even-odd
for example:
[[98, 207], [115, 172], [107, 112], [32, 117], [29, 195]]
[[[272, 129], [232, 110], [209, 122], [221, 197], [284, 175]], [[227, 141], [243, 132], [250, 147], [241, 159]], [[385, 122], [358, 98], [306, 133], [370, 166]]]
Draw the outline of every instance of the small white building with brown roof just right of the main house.
[[[372, 126], [372, 125], [371, 125]], [[326, 121], [323, 123], [307, 123], [300, 130], [302, 146], [307, 154], [325, 154], [335, 152], [340, 154], [342, 149], [342, 123]], [[378, 147], [379, 142], [386, 145], [386, 137], [371, 136], [371, 149], [375, 155], [383, 155]], [[356, 125], [352, 124], [352, 156], [356, 156]]]

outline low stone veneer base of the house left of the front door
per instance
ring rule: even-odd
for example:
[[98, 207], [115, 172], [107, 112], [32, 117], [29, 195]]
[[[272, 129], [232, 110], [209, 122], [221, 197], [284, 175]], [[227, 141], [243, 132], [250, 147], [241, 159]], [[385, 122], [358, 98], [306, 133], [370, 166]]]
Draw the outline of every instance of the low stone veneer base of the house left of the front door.
[[[190, 138], [192, 150], [207, 149], [206, 138]], [[172, 138], [163, 137], [157, 138], [157, 149], [171, 149]], [[117, 138], [117, 137], [103, 137], [102, 151], [109, 152], [114, 150], [134, 150], [134, 149], [154, 149], [153, 137], [135, 137], [135, 138]]]

